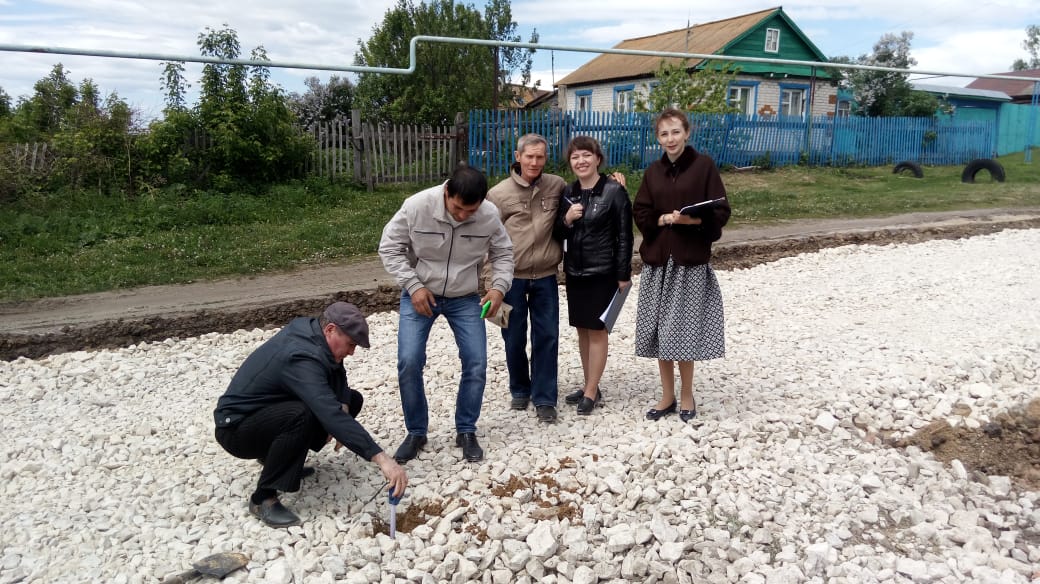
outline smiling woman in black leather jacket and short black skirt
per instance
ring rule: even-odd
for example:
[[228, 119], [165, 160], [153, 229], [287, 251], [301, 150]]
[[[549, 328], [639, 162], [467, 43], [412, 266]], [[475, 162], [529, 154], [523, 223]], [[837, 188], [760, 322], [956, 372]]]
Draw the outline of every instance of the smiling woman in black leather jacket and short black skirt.
[[564, 245], [567, 308], [578, 331], [584, 387], [565, 399], [588, 416], [600, 403], [606, 369], [608, 330], [599, 317], [615, 292], [631, 284], [632, 205], [625, 187], [599, 171], [603, 150], [595, 138], [572, 139], [567, 158], [577, 180], [564, 188], [553, 236]]

